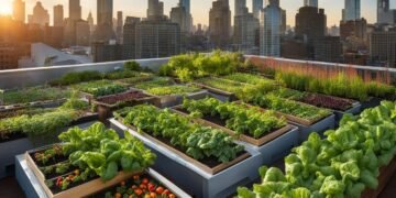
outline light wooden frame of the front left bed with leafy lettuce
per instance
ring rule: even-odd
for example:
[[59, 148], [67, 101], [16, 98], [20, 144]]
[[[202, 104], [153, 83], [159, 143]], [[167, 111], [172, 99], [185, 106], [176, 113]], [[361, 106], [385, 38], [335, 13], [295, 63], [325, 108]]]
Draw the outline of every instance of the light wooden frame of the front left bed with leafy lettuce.
[[120, 172], [113, 179], [111, 179], [111, 180], [109, 180], [107, 183], [103, 183], [101, 180], [101, 178], [96, 178], [96, 179], [89, 180], [87, 183], [84, 183], [84, 184], [81, 184], [79, 186], [72, 187], [72, 188], [69, 188], [67, 190], [64, 190], [64, 191], [61, 191], [61, 193], [54, 195], [53, 191], [45, 184], [43, 173], [40, 170], [40, 168], [34, 163], [33, 158], [31, 158], [31, 156], [29, 154], [29, 153], [32, 153], [32, 152], [44, 150], [46, 147], [42, 147], [42, 148], [38, 148], [38, 150], [35, 150], [35, 151], [26, 152], [24, 156], [25, 156], [28, 166], [32, 169], [32, 172], [36, 176], [40, 185], [42, 186], [45, 194], [50, 198], [86, 197], [86, 196], [92, 195], [92, 194], [95, 194], [97, 191], [100, 191], [101, 189], [106, 189], [108, 187], [117, 185], [117, 184], [121, 183], [122, 180], [125, 180], [125, 179], [132, 177], [133, 175], [139, 174], [139, 173], [141, 173], [143, 170], [142, 169], [141, 172], [131, 172], [131, 173]]

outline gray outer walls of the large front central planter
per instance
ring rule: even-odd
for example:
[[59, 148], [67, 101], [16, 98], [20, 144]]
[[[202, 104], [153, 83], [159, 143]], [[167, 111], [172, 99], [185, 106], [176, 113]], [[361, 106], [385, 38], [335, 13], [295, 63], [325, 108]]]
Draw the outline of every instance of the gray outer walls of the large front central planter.
[[245, 148], [251, 155], [249, 158], [211, 175], [117, 120], [111, 119], [110, 123], [119, 133], [128, 131], [150, 147], [157, 155], [154, 169], [194, 197], [226, 198], [234, 194], [238, 186], [251, 184], [258, 178], [257, 168], [262, 165], [262, 158], [260, 153], [251, 147]]

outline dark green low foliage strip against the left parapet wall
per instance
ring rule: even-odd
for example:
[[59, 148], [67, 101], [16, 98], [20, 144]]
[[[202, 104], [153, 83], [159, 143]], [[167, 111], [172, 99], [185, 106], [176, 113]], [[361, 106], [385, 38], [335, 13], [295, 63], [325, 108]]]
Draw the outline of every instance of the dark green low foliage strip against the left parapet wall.
[[97, 70], [86, 70], [79, 73], [68, 73], [59, 79], [51, 82], [54, 86], [69, 86], [84, 81], [92, 81], [103, 79], [103, 74]]

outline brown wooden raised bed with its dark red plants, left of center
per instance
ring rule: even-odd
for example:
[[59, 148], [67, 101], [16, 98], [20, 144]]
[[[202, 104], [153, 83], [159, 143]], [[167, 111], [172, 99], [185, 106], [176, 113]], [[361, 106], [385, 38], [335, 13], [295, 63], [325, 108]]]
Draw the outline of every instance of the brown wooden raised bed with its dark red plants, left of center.
[[157, 105], [157, 98], [145, 95], [138, 90], [130, 90], [127, 92], [111, 95], [107, 97], [100, 97], [92, 100], [92, 105], [96, 107], [99, 119], [105, 121], [112, 116], [112, 111], [127, 106], [135, 106], [141, 103]]

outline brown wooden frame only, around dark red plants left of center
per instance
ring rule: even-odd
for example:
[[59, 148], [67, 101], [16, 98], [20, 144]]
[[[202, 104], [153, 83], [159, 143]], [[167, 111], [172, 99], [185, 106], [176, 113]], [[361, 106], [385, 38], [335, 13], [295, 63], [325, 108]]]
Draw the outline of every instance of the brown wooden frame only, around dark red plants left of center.
[[[125, 94], [125, 92], [123, 92], [123, 94]], [[119, 96], [119, 95], [123, 95], [123, 94], [100, 97], [100, 98], [94, 99], [91, 101], [92, 105], [96, 107], [97, 112], [99, 113], [99, 119], [101, 121], [105, 121], [106, 119], [110, 118], [114, 110], [118, 110], [118, 109], [123, 108], [123, 107], [133, 107], [133, 106], [142, 105], [142, 103], [157, 105], [158, 99], [156, 97], [153, 97], [153, 96], [147, 96], [147, 97], [138, 98], [138, 99], [124, 100], [124, 101], [120, 101], [120, 102], [114, 103], [114, 105], [109, 105], [109, 103], [98, 101], [98, 100], [100, 100], [102, 98], [114, 97], [114, 96]]]

